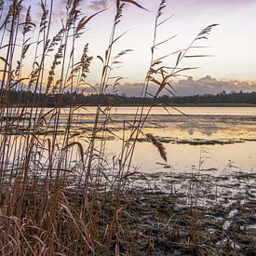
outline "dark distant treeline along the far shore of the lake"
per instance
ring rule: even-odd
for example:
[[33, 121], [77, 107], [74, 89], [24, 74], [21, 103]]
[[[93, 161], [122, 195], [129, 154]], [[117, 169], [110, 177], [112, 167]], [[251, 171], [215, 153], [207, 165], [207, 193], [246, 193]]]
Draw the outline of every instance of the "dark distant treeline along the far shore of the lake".
[[[0, 90], [0, 93], [2, 91]], [[84, 95], [82, 93], [70, 93], [57, 95], [46, 95], [45, 93], [33, 93], [30, 91], [4, 91], [5, 95], [3, 103], [18, 106], [69, 106], [69, 105], [88, 105], [94, 106], [99, 103], [99, 95], [91, 94]], [[238, 92], [238, 93], [225, 93], [220, 94], [205, 94], [194, 96], [174, 97], [163, 95], [159, 99], [140, 97], [127, 97], [125, 95], [106, 94], [101, 97], [101, 105], [140, 105], [142, 102], [145, 105], [155, 104], [171, 104], [171, 105], [184, 105], [184, 104], [256, 104], [256, 92]]]

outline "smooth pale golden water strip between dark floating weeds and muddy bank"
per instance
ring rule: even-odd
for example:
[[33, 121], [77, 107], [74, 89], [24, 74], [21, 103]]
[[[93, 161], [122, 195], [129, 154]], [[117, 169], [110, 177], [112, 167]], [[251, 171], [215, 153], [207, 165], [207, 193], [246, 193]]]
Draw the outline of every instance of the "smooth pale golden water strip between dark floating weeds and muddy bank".
[[[168, 152], [168, 164], [165, 164], [150, 142], [138, 143], [133, 157], [133, 164], [144, 172], [200, 171], [220, 174], [228, 171], [251, 171], [256, 167], [255, 142], [225, 145], [185, 145], [164, 143]], [[117, 141], [110, 141], [108, 152], [115, 154]], [[201, 158], [200, 158], [201, 157]]]

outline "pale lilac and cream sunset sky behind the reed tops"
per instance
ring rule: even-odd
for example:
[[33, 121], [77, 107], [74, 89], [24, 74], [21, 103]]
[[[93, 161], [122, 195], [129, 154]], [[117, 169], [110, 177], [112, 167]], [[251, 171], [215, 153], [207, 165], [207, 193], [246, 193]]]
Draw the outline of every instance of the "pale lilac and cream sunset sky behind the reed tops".
[[[136, 94], [148, 70], [155, 12], [160, 1], [137, 0], [137, 2], [148, 11], [127, 4], [117, 28], [117, 35], [128, 33], [116, 43], [114, 50], [115, 54], [123, 49], [133, 49], [122, 59], [121, 67], [113, 73], [125, 77], [121, 91], [128, 94]], [[55, 32], [61, 27], [65, 4], [64, 0], [54, 0], [53, 31]], [[39, 0], [24, 0], [24, 5], [26, 7], [32, 5], [33, 18], [39, 17]], [[102, 56], [107, 47], [115, 15], [115, 0], [84, 0], [81, 5], [82, 12], [87, 15], [104, 8], [108, 9], [89, 22], [88, 31], [76, 43], [76, 49], [82, 49], [86, 43], [89, 43], [89, 54], [94, 57]], [[197, 46], [206, 48], [196, 48], [191, 51], [193, 55], [207, 54], [211, 57], [187, 59], [182, 62], [182, 67], [199, 68], [184, 73], [186, 76], [180, 77], [181, 82], [174, 81], [178, 91], [180, 85], [181, 94], [191, 94], [196, 92], [196, 89], [198, 93], [216, 93], [225, 88], [227, 91], [255, 89], [256, 0], [167, 0], [163, 19], [172, 15], [173, 17], [159, 28], [156, 42], [176, 34], [177, 36], [158, 47], [155, 52], [156, 57], [187, 47], [202, 29], [213, 23], [220, 24], [213, 28], [208, 40], [197, 42]], [[169, 57], [165, 59], [165, 64], [173, 66], [176, 59], [177, 56]], [[90, 70], [88, 82], [99, 83], [101, 61], [94, 58]], [[213, 88], [208, 87], [208, 83], [212, 80], [216, 84]], [[188, 86], [186, 90], [184, 84]]]

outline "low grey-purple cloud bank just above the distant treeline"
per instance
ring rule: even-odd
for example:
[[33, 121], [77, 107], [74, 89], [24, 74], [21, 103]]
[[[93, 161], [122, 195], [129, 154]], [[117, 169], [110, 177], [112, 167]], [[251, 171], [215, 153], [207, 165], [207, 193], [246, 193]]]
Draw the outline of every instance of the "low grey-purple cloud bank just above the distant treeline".
[[[256, 91], [256, 82], [247, 82], [247, 81], [238, 81], [238, 80], [218, 80], [210, 75], [201, 77], [194, 80], [192, 77], [188, 77], [185, 80], [180, 80], [176, 83], [172, 83], [173, 88], [175, 89], [174, 94], [177, 96], [190, 96], [196, 94], [217, 94], [225, 90], [229, 92], [238, 92], [243, 90], [244, 92]], [[98, 87], [96, 87], [98, 88]], [[140, 96], [141, 95], [142, 84], [124, 84], [120, 85], [117, 88], [117, 93], [119, 95], [125, 94], [127, 96]], [[155, 94], [157, 86], [151, 84], [148, 87], [148, 92], [150, 94]], [[88, 93], [93, 93], [91, 88], [86, 90]], [[108, 91], [112, 93], [111, 90]], [[163, 90], [162, 95], [169, 92]]]

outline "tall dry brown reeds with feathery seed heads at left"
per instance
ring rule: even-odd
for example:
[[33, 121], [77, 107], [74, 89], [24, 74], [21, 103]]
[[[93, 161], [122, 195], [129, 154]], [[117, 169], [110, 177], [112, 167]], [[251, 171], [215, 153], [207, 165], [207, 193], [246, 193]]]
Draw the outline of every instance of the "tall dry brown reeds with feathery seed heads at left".
[[[102, 56], [96, 58], [101, 61], [102, 71], [94, 124], [88, 135], [83, 130], [74, 129], [74, 119], [79, 118], [77, 113], [86, 108], [76, 104], [75, 96], [87, 83], [92, 57], [89, 56], [88, 44], [80, 52], [79, 61], [75, 59], [74, 52], [78, 48], [78, 38], [85, 36], [88, 22], [93, 22], [97, 15], [104, 15], [104, 10], [84, 16], [80, 11], [82, 1], [68, 0], [61, 29], [51, 37], [53, 0], [41, 1], [39, 23], [31, 18], [32, 7], [24, 10], [22, 4], [21, 0], [12, 0], [9, 5], [0, 1], [0, 112], [3, 117], [0, 123], [0, 253], [119, 255], [125, 250], [131, 255], [137, 244], [132, 239], [134, 227], [125, 222], [130, 213], [129, 204], [124, 208], [124, 201], [129, 200], [125, 194], [129, 178], [137, 173], [131, 170], [136, 142], [141, 135], [147, 137], [161, 157], [168, 160], [163, 144], [152, 134], [144, 134], [143, 125], [151, 109], [159, 103], [161, 92], [168, 90], [174, 94], [171, 79], [194, 69], [181, 67], [182, 60], [206, 57], [189, 55], [189, 50], [198, 40], [206, 39], [216, 24], [197, 34], [185, 49], [156, 59], [156, 47], [175, 37], [171, 35], [157, 42], [159, 28], [170, 19], [164, 18], [166, 1], [159, 3], [153, 28], [151, 61], [141, 91], [141, 106], [133, 123], [124, 121], [122, 137], [119, 137], [109, 128], [113, 103], [110, 101], [107, 106], [102, 105], [107, 89], [115, 91], [123, 79], [121, 75], [113, 75], [116, 65], [131, 51], [127, 48], [114, 55], [115, 45], [125, 36], [125, 33], [116, 34], [116, 28], [123, 19], [125, 5], [147, 10], [137, 1], [116, 0], [108, 47]], [[21, 15], [24, 11], [25, 15]], [[24, 65], [29, 65], [26, 61], [28, 55], [33, 60], [30, 63], [32, 68], [31, 73], [24, 76]], [[171, 55], [176, 61], [172, 67], [166, 66], [164, 60]], [[47, 69], [50, 60], [51, 65]], [[152, 95], [154, 104], [145, 112], [143, 104], [149, 95], [150, 83], [155, 83], [158, 89]], [[32, 106], [22, 94], [20, 103], [11, 105], [10, 92], [13, 90], [31, 92], [34, 95]], [[70, 92], [71, 104], [63, 127], [61, 105], [63, 93], [67, 91]], [[35, 93], [47, 97], [40, 98], [42, 102], [38, 104]], [[54, 103], [50, 109], [44, 107], [49, 97]], [[113, 155], [112, 162], [108, 162], [105, 155], [110, 135], [122, 141], [120, 154]], [[196, 244], [198, 217], [196, 211], [191, 214], [191, 236]], [[125, 240], [130, 242], [126, 248], [123, 245]], [[151, 241], [149, 245], [154, 249]]]

